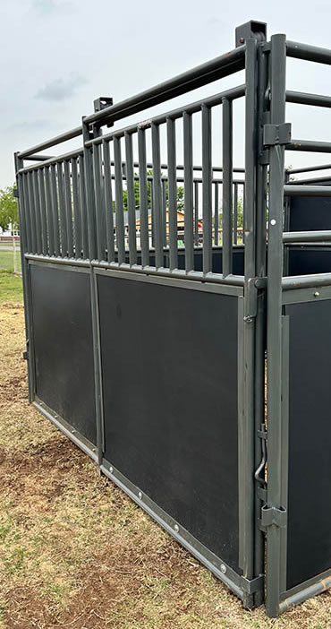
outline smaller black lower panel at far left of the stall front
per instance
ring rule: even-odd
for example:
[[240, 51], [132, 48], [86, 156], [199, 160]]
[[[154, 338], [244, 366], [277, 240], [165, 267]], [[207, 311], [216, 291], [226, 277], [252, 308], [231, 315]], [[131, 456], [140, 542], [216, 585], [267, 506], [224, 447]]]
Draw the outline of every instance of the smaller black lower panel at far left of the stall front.
[[37, 395], [96, 444], [89, 273], [30, 265]]

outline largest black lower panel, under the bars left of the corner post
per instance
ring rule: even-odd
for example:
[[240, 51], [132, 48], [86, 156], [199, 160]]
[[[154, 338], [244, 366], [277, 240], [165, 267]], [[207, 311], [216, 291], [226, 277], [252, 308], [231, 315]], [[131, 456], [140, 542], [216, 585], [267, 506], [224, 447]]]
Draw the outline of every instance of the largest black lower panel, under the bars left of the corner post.
[[106, 460], [239, 572], [237, 297], [98, 291]]

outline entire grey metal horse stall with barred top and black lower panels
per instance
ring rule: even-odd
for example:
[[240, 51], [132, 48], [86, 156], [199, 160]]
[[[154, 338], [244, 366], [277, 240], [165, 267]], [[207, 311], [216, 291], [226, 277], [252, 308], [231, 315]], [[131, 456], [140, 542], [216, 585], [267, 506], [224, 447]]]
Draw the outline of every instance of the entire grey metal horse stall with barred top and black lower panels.
[[[81, 126], [15, 154], [29, 393], [245, 607], [264, 599], [266, 572], [277, 616], [331, 581], [331, 272], [320, 274], [331, 257], [324, 240], [311, 262], [320, 232], [300, 208], [295, 222], [294, 195], [316, 186], [284, 185], [285, 148], [307, 147], [291, 141], [285, 101], [327, 99], [285, 90], [286, 55], [331, 54], [267, 42], [261, 22], [239, 27], [236, 46], [117, 104], [98, 99]], [[118, 124], [240, 72], [238, 87]], [[238, 99], [245, 168], [233, 168]], [[79, 149], [38, 154], [80, 135]], [[222, 167], [211, 159], [219, 137]], [[331, 187], [318, 190], [319, 202]]]

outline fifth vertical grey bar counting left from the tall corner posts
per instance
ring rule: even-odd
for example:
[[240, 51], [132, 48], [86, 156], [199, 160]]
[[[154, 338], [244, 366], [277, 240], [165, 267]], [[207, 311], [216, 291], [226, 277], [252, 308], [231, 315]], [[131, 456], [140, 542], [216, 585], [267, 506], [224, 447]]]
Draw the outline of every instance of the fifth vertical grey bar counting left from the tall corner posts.
[[161, 157], [160, 130], [152, 123], [152, 162], [153, 162], [153, 209], [155, 224], [155, 265], [164, 265], [163, 230], [162, 230], [162, 188], [161, 188]]

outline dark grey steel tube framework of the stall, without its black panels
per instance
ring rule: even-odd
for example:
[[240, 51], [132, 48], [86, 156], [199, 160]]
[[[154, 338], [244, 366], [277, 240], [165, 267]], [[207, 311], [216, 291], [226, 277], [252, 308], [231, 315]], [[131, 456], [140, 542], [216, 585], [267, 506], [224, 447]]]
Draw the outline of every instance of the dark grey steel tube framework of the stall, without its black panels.
[[[284, 198], [294, 195], [329, 196], [330, 179], [310, 177], [289, 181], [284, 170], [284, 152], [331, 152], [329, 142], [291, 140], [285, 123], [286, 102], [314, 107], [331, 107], [331, 97], [286, 91], [286, 57], [331, 65], [331, 51], [292, 42], [284, 35], [266, 41], [266, 25], [249, 22], [237, 30], [242, 43], [230, 53], [193, 68], [174, 79], [146, 90], [117, 104], [111, 104], [89, 116], [81, 126], [47, 142], [15, 153], [15, 170], [19, 191], [21, 226], [21, 262], [25, 304], [27, 349], [29, 352], [29, 397], [65, 435], [80, 445], [98, 462], [102, 470], [119, 487], [142, 506], [175, 539], [188, 548], [203, 564], [225, 582], [243, 601], [253, 607], [264, 598], [264, 540], [267, 535], [267, 614], [278, 616], [285, 608], [325, 590], [331, 585], [329, 572], [285, 591], [286, 526], [288, 478], [288, 317], [283, 306], [318, 298], [331, 298], [331, 273], [284, 277], [284, 255], [290, 243], [330, 242], [331, 231], [288, 232]], [[242, 35], [240, 35], [242, 33]], [[239, 39], [238, 39], [239, 38]], [[240, 70], [245, 83], [186, 107], [175, 108], [149, 120], [114, 128], [103, 134], [102, 128], [113, 126], [127, 116], [163, 103], [216, 79]], [[233, 168], [233, 100], [245, 99], [245, 169]], [[223, 108], [223, 166], [211, 164], [211, 111]], [[202, 163], [192, 163], [192, 116], [201, 112]], [[183, 120], [183, 164], [176, 164], [175, 121]], [[161, 125], [166, 127], [166, 163], [161, 162]], [[151, 134], [152, 162], [146, 158], [146, 138]], [[38, 151], [82, 136], [81, 149], [57, 157], [38, 155]], [[132, 137], [137, 136], [139, 160], [134, 161]], [[122, 159], [125, 143], [125, 160]], [[114, 158], [110, 155], [110, 147]], [[24, 160], [32, 164], [24, 166]], [[136, 175], [134, 168], [139, 168]], [[297, 168], [292, 173], [314, 172], [325, 167]], [[148, 175], [147, 169], [153, 170]], [[161, 172], [166, 169], [166, 175]], [[178, 175], [178, 171], [183, 174]], [[194, 173], [200, 172], [201, 177]], [[216, 173], [222, 173], [222, 179]], [[244, 172], [235, 179], [234, 172]], [[267, 191], [267, 175], [268, 191]], [[140, 246], [137, 246], [134, 206], [134, 181], [140, 187]], [[113, 185], [115, 182], [115, 186]], [[123, 182], [128, 203], [128, 247], [123, 224]], [[185, 268], [178, 268], [180, 249], [176, 220], [175, 191], [177, 182], [185, 190]], [[326, 185], [315, 185], [325, 183]], [[198, 185], [202, 185], [202, 271], [197, 271], [195, 256], [200, 250], [198, 235]], [[223, 188], [222, 250], [212, 235], [212, 185]], [[152, 187], [148, 207], [148, 185]], [[244, 188], [244, 273], [233, 274], [233, 248], [237, 246], [238, 185]], [[166, 234], [166, 186], [168, 186], [169, 235]], [[268, 192], [268, 194], [267, 194]], [[233, 208], [234, 193], [234, 208]], [[215, 193], [216, 194], [216, 193]], [[268, 203], [267, 203], [268, 197]], [[113, 211], [106, 209], [115, 203]], [[193, 214], [194, 206], [194, 214]], [[267, 228], [268, 209], [268, 228]], [[152, 240], [149, 243], [148, 212], [151, 212]], [[111, 214], [111, 215], [110, 215]], [[72, 219], [73, 217], [73, 219]], [[285, 218], [284, 218], [285, 217]], [[215, 225], [218, 225], [215, 196]], [[284, 230], [285, 225], [285, 230]], [[267, 241], [267, 244], [266, 244]], [[285, 245], [285, 247], [284, 247]], [[213, 271], [213, 254], [222, 252], [223, 271]], [[285, 257], [286, 263], [286, 257]], [[72, 433], [64, 419], [55, 417], [36, 397], [31, 315], [30, 265], [59, 265], [77, 272], [89, 272], [93, 321], [94, 368], [96, 383], [97, 448], [82, 435]], [[216, 291], [238, 298], [239, 320], [239, 564], [242, 576], [213, 556], [188, 531], [164, 513], [140, 488], [105, 461], [101, 359], [98, 318], [98, 274], [131, 280], [181, 286], [185, 289]], [[265, 424], [265, 349], [267, 380], [282, 387], [267, 389], [267, 427]], [[268, 472], [265, 476], [267, 435]]]

